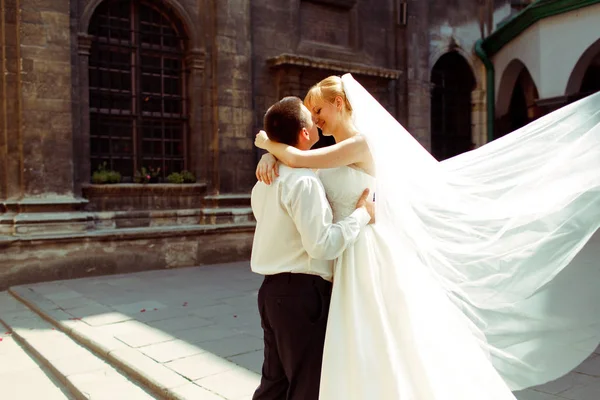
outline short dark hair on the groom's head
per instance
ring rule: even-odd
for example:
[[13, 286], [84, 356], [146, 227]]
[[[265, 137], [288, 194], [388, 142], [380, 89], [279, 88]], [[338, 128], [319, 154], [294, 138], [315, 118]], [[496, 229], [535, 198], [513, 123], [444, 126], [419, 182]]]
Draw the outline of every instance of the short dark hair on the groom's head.
[[296, 146], [298, 133], [308, 127], [309, 121], [302, 112], [302, 100], [288, 96], [269, 107], [263, 123], [269, 139]]

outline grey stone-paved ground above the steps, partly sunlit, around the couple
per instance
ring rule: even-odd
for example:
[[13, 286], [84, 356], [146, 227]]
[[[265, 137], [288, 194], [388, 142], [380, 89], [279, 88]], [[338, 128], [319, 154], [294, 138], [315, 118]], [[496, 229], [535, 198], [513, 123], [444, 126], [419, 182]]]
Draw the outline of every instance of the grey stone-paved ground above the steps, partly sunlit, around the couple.
[[[250, 399], [262, 363], [248, 263], [42, 283], [12, 293], [133, 377], [182, 399]], [[600, 353], [600, 351], [599, 351]], [[599, 400], [600, 354], [520, 400]]]

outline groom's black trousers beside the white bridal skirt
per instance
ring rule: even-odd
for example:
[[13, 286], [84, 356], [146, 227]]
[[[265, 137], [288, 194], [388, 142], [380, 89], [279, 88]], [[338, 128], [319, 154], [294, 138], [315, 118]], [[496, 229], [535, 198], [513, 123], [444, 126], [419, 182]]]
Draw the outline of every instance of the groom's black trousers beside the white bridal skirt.
[[253, 400], [317, 400], [331, 282], [267, 275], [258, 291], [265, 360]]

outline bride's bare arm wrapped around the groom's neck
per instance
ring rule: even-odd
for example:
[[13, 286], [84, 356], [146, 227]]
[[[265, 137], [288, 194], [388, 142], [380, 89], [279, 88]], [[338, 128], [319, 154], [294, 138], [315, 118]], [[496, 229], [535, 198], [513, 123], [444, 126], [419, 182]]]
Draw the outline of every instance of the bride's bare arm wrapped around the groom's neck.
[[279, 161], [293, 168], [335, 168], [366, 162], [369, 158], [369, 146], [366, 139], [357, 135], [336, 143], [333, 146], [315, 150], [299, 150], [293, 146], [271, 140], [256, 145], [273, 154]]

